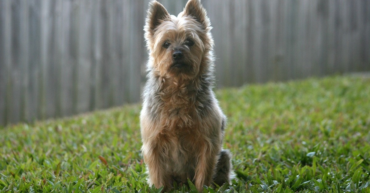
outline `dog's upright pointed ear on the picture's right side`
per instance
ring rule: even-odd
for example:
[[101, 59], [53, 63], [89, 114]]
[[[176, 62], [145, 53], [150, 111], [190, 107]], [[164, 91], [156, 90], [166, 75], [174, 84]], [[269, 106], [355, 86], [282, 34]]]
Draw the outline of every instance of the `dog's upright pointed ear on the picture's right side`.
[[201, 23], [205, 28], [211, 26], [211, 22], [207, 17], [207, 11], [202, 6], [200, 0], [189, 0], [184, 8], [184, 15], [194, 17], [194, 19]]

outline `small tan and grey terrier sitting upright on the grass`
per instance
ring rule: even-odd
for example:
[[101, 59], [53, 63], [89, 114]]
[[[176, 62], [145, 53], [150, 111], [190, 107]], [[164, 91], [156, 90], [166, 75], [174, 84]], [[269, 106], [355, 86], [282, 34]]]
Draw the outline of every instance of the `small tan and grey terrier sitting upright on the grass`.
[[164, 191], [188, 178], [199, 192], [233, 178], [230, 152], [222, 149], [226, 117], [212, 91], [211, 28], [200, 0], [189, 0], [177, 17], [149, 3], [141, 150], [149, 185]]

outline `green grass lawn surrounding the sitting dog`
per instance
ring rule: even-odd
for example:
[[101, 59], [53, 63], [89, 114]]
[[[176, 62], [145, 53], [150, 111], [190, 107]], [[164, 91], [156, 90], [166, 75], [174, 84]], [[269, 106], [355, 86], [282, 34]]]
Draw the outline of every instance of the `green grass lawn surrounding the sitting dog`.
[[[232, 185], [204, 192], [370, 192], [370, 79], [217, 90]], [[158, 192], [145, 181], [139, 105], [0, 128], [1, 192]], [[194, 185], [175, 192], [195, 192]]]

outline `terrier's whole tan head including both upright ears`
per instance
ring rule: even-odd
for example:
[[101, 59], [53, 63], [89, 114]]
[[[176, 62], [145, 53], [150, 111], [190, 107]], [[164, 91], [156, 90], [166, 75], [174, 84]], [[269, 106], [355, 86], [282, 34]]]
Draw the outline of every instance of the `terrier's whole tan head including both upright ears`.
[[176, 17], [162, 4], [151, 1], [145, 22], [145, 39], [156, 75], [193, 79], [203, 68], [213, 39], [206, 11], [199, 0], [189, 0]]

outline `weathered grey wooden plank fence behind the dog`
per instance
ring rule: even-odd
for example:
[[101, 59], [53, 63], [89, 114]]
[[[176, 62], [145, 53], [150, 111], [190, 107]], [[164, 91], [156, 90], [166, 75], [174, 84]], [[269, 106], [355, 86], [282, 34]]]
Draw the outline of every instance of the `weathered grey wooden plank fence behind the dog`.
[[[161, 1], [178, 14], [186, 0]], [[369, 0], [202, 0], [218, 86], [370, 70]], [[0, 0], [0, 125], [137, 102], [148, 0]]]

